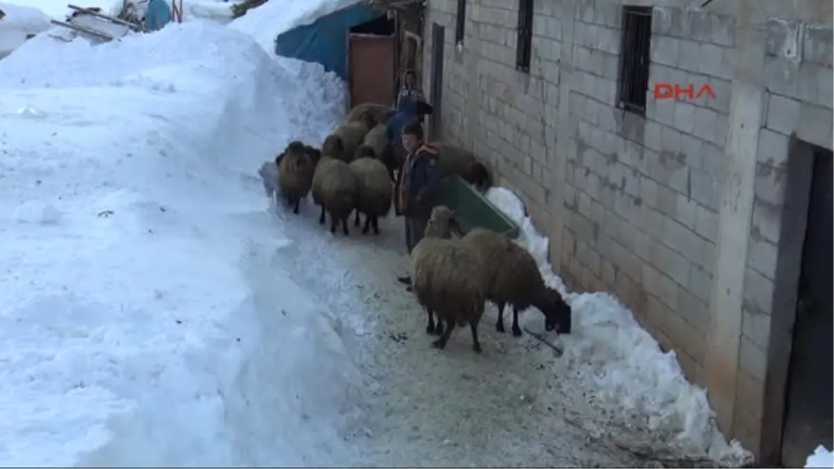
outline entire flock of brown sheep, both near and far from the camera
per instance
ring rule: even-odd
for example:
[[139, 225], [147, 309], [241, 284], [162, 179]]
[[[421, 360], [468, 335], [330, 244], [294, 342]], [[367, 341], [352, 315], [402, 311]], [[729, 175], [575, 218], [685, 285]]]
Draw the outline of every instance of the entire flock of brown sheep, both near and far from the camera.
[[[333, 234], [341, 225], [344, 235], [349, 235], [349, 218], [355, 212], [356, 226], [364, 214], [363, 233], [374, 229], [379, 235], [378, 221], [391, 209], [394, 170], [399, 167], [385, 133], [393, 114], [392, 108], [362, 104], [324, 140], [320, 150], [291, 142], [275, 159], [277, 175], [261, 170], [267, 192], [275, 187], [294, 214], [299, 213], [301, 199], [312, 193], [321, 209], [319, 224], [329, 215]], [[489, 171], [474, 154], [450, 144], [434, 146], [447, 174], [458, 174], [478, 189], [489, 187]], [[277, 179], [272, 181], [277, 184], [268, 184], [270, 178]], [[460, 235], [455, 213], [441, 205], [432, 211], [425, 238], [411, 253], [412, 287], [428, 313], [426, 331], [440, 335], [433, 346], [444, 348], [455, 325], [469, 325], [473, 348], [480, 353], [477, 328], [487, 300], [498, 306], [495, 329], [499, 332], [505, 331], [503, 313], [509, 304], [513, 305], [515, 336], [521, 335], [518, 315], [530, 306], [545, 315], [546, 330], [570, 333], [570, 305], [545, 285], [527, 250], [490, 229], [476, 228]]]

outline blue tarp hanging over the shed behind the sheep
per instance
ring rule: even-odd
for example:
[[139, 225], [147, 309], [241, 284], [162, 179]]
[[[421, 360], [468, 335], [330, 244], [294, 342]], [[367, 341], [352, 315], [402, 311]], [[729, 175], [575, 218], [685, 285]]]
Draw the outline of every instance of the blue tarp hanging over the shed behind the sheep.
[[328, 72], [335, 72], [343, 80], [348, 79], [348, 33], [350, 28], [367, 23], [383, 12], [364, 3], [319, 18], [313, 24], [290, 29], [275, 38], [275, 53], [282, 57], [298, 58], [304, 62], [324, 65]]

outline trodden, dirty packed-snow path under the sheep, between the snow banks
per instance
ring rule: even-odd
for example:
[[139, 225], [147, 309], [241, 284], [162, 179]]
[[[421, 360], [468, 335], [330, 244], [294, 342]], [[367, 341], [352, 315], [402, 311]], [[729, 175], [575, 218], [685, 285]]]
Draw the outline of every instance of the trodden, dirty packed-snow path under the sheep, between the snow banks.
[[[554, 360], [550, 349], [537, 354], [530, 350], [535, 340], [497, 333], [495, 315], [481, 323], [481, 355], [472, 351], [466, 329], [458, 330], [445, 350], [430, 347], [436, 338], [425, 332], [425, 313], [396, 280], [405, 268], [402, 219], [385, 219], [379, 237], [362, 235], [352, 224], [349, 237], [333, 237], [317, 226], [317, 213], [311, 204], [301, 216], [279, 209], [288, 235], [305, 238], [280, 248], [274, 262], [318, 291], [331, 310], [359, 320], [358, 330], [364, 328], [351, 348], [359, 350], [361, 367], [377, 387], [367, 403], [369, 436], [359, 443], [366, 451], [351, 464], [621, 466], [634, 461], [625, 451], [588, 438], [576, 424], [580, 409], [565, 405], [582, 396], [570, 396], [570, 383], [545, 371], [547, 361]], [[311, 237], [316, 228], [320, 235]], [[334, 272], [311, 262], [324, 253], [350, 269]]]

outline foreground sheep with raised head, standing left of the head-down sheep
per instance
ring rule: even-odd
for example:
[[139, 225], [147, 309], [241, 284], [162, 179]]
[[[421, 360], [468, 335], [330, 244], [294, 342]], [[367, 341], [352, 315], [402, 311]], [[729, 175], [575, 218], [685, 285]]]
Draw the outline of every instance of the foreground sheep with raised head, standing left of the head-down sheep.
[[440, 335], [432, 346], [443, 349], [455, 325], [463, 327], [468, 323], [472, 350], [480, 353], [478, 323], [486, 301], [484, 267], [474, 250], [461, 240], [450, 239], [454, 217], [455, 213], [444, 205], [432, 209], [425, 238], [411, 251], [412, 289], [429, 315], [426, 332]]

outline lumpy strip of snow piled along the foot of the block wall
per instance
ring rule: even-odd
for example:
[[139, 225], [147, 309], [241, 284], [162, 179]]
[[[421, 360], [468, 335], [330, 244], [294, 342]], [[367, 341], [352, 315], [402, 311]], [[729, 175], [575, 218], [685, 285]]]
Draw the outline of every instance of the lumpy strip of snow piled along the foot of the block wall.
[[[559, 290], [574, 310], [572, 334], [560, 335], [565, 356], [556, 365], [558, 372], [570, 375], [571, 387], [585, 391], [590, 406], [604, 415], [606, 426], [629, 429], [609, 430], [609, 435], [600, 437], [653, 457], [662, 453], [690, 460], [708, 457], [727, 466], [751, 461], [751, 453], [738, 441], [727, 444], [706, 391], [686, 380], [673, 351], [663, 353], [615, 296], [568, 292], [550, 266], [547, 238], [536, 232], [520, 199], [502, 187], [490, 189], [487, 198], [519, 224], [517, 241], [535, 257], [545, 282]], [[540, 322], [539, 315], [528, 316], [525, 320]], [[600, 431], [593, 422], [589, 427]], [[618, 440], [636, 432], [641, 433], [639, 441]]]

